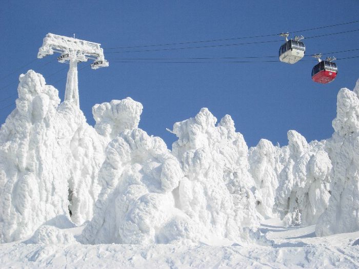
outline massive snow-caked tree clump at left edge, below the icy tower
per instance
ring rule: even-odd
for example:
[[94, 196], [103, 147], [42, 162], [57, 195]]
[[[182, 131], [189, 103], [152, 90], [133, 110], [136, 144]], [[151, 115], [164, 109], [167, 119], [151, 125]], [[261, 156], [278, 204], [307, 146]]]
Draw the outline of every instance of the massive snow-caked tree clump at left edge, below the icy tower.
[[0, 242], [48, 221], [62, 226], [69, 208], [76, 224], [90, 219], [104, 159], [81, 110], [59, 105], [58, 91], [32, 70], [19, 79], [16, 108], [0, 130]]

